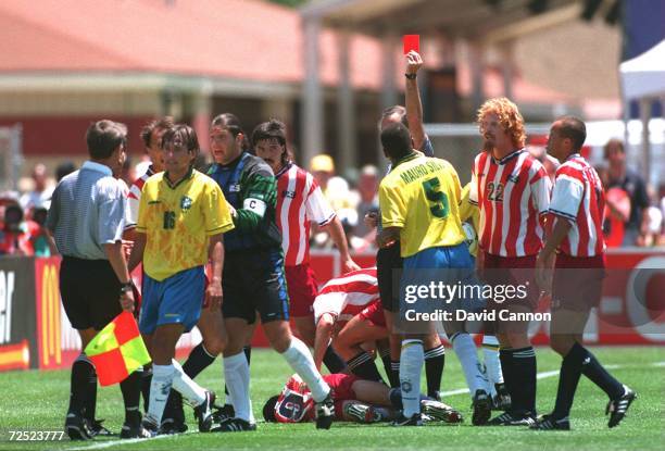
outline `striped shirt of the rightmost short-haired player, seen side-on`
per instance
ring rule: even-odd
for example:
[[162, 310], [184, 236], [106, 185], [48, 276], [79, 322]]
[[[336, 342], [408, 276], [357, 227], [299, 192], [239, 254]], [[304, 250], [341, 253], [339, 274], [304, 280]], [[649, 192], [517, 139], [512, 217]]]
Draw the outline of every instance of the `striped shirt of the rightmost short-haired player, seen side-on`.
[[550, 213], [570, 222], [559, 250], [570, 256], [594, 256], [604, 252], [603, 213], [605, 193], [593, 167], [578, 153], [556, 170]]

